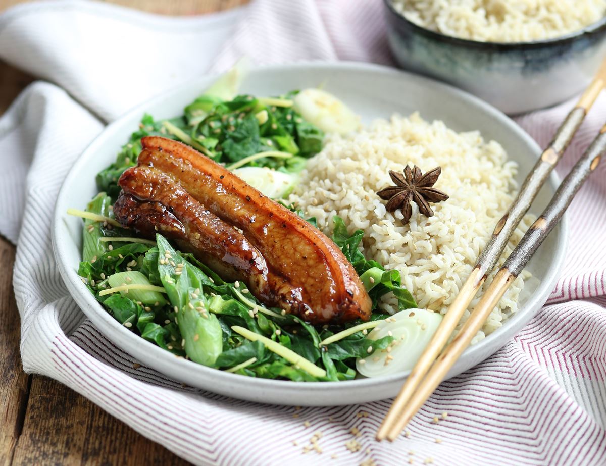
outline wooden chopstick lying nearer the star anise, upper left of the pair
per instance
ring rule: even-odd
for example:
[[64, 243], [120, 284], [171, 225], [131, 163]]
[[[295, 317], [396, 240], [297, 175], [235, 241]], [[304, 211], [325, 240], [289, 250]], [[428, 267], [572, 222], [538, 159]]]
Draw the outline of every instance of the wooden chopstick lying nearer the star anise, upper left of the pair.
[[536, 164], [534, 164], [533, 169], [528, 173], [509, 211], [496, 224], [493, 235], [482, 251], [473, 270], [471, 270], [467, 281], [465, 281], [459, 294], [448, 307], [438, 330], [436, 330], [427, 348], [421, 354], [421, 358], [419, 358], [415, 367], [413, 367], [408, 375], [405, 384], [402, 386], [402, 390], [391, 405], [387, 416], [385, 416], [376, 434], [377, 440], [381, 441], [387, 438], [387, 432], [390, 430], [390, 427], [395, 424], [400, 416], [399, 413], [404, 410], [405, 405], [407, 405], [411, 396], [415, 393], [416, 388], [421, 383], [431, 364], [433, 364], [442, 348], [444, 348], [454, 328], [456, 328], [456, 325], [461, 320], [463, 313], [473, 300], [473, 297], [478, 293], [487, 275], [493, 270], [499, 257], [501, 257], [511, 234], [528, 211], [528, 208], [530, 208], [530, 204], [536, 198], [551, 170], [556, 166], [568, 144], [570, 144], [574, 133], [578, 130], [591, 105], [593, 105], [593, 102], [595, 102], [602, 88], [605, 86], [606, 60], [602, 62], [598, 74], [587, 87], [578, 104], [568, 113], [564, 122], [558, 128], [556, 135], [547, 149], [542, 153], [541, 158], [539, 158]]

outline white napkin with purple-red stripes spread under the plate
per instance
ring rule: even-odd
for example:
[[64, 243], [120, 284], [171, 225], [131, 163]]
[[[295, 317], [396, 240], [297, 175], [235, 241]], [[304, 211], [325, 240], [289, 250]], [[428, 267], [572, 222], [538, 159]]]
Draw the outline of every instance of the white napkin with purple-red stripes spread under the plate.
[[[389, 64], [381, 9], [379, 1], [256, 0], [227, 13], [165, 18], [48, 1], [0, 16], [0, 58], [48, 81], [30, 85], [0, 119], [0, 233], [17, 244], [14, 285], [26, 371], [67, 384], [195, 464], [606, 462], [604, 167], [569, 209], [570, 248], [548, 305], [494, 356], [440, 385], [407, 436], [393, 444], [374, 440], [390, 400], [302, 408], [295, 417], [291, 407], [227, 399], [135, 368], [132, 357], [84, 319], [62, 283], [50, 242], [53, 206], [73, 161], [105, 123], [168, 87], [225, 70], [242, 55], [256, 64]], [[545, 145], [570, 106], [518, 122]], [[559, 173], [605, 118], [602, 96]], [[446, 419], [432, 422], [444, 411]], [[316, 432], [323, 452], [304, 454]], [[352, 440], [357, 444], [346, 447]]]

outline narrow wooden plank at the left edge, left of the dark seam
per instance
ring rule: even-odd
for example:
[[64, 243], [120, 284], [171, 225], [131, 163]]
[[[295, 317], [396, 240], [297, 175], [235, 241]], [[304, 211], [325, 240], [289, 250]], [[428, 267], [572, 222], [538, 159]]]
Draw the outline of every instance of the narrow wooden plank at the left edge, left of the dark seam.
[[0, 465], [7, 466], [21, 433], [30, 378], [19, 356], [21, 322], [12, 285], [15, 247], [1, 237], [0, 257]]

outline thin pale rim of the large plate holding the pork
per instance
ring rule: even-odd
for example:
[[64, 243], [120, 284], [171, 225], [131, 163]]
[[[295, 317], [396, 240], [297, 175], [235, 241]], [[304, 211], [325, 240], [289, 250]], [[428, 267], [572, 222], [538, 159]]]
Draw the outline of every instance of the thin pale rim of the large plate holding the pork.
[[[262, 66], [253, 67], [251, 69], [251, 73], [267, 72], [267, 71], [273, 71], [273, 72], [279, 73], [284, 68], [306, 69], [309, 67], [324, 68], [326, 70], [330, 70], [331, 68], [336, 67], [341, 70], [342, 69], [350, 70], [351, 72], [356, 72], [356, 71], [376, 72], [376, 73], [381, 73], [384, 75], [392, 75], [392, 76], [406, 75], [408, 79], [424, 81], [425, 84], [427, 84], [435, 89], [446, 90], [447, 92], [451, 93], [452, 95], [455, 95], [459, 98], [464, 98], [467, 101], [469, 101], [471, 104], [477, 106], [479, 108], [479, 110], [484, 110], [484, 112], [487, 112], [491, 116], [495, 116], [496, 118], [499, 119], [499, 121], [501, 121], [502, 125], [509, 127], [511, 130], [516, 131], [516, 133], [519, 133], [520, 138], [524, 139], [524, 141], [527, 142], [531, 147], [534, 147], [534, 151], [536, 151], [537, 157], [541, 153], [541, 149], [539, 148], [536, 141], [534, 141], [534, 139], [531, 138], [531, 136], [528, 135], [528, 133], [526, 133], [513, 120], [508, 118], [507, 115], [502, 113], [497, 108], [493, 107], [492, 105], [488, 104], [487, 102], [482, 101], [482, 99], [479, 99], [478, 97], [473, 96], [470, 93], [467, 93], [459, 88], [456, 88], [456, 87], [448, 85], [448, 84], [444, 84], [443, 82], [437, 81], [436, 79], [431, 79], [431, 78], [427, 78], [425, 76], [416, 75], [415, 73], [404, 72], [402, 70], [398, 70], [398, 69], [392, 68], [392, 67], [387, 67], [384, 65], [369, 64], [369, 63], [364, 63], [364, 62], [351, 62], [351, 61], [350, 62], [348, 62], [348, 61], [301, 61], [301, 62], [296, 62], [296, 63], [291, 63], [291, 64], [262, 65]], [[65, 204], [67, 202], [67, 194], [68, 194], [68, 191], [70, 188], [70, 184], [73, 182], [73, 179], [75, 179], [75, 178], [77, 178], [77, 176], [79, 176], [80, 171], [85, 167], [85, 165], [86, 165], [85, 162], [87, 161], [87, 157], [85, 155], [87, 155], [90, 152], [96, 153], [99, 150], [99, 147], [102, 147], [102, 145], [105, 144], [105, 139], [108, 138], [108, 135], [111, 135], [112, 133], [120, 130], [122, 121], [124, 121], [125, 119], [128, 119], [129, 117], [133, 116], [134, 114], [142, 115], [142, 113], [144, 113], [146, 111], [147, 107], [150, 107], [151, 105], [154, 105], [157, 102], [165, 101], [166, 99], [170, 98], [171, 95], [177, 93], [178, 90], [183, 87], [190, 87], [191, 85], [193, 85], [195, 83], [199, 84], [202, 80], [207, 81], [207, 82], [212, 82], [212, 79], [215, 79], [216, 76], [218, 76], [218, 75], [216, 75], [216, 74], [204, 75], [204, 76], [195, 78], [195, 79], [191, 80], [190, 82], [185, 82], [184, 84], [181, 84], [175, 88], [171, 88], [165, 92], [162, 92], [159, 95], [152, 96], [147, 101], [144, 101], [141, 104], [136, 105], [135, 107], [131, 108], [130, 110], [128, 110], [127, 112], [122, 114], [119, 118], [116, 118], [115, 121], [108, 124], [104, 128], [104, 130], [102, 130], [101, 133], [99, 133], [99, 135], [97, 135], [95, 137], [95, 139], [93, 139], [93, 141], [84, 149], [84, 151], [82, 151], [82, 154], [79, 156], [79, 158], [76, 159], [76, 161], [74, 162], [74, 164], [68, 171], [67, 176], [65, 176], [65, 179], [59, 190], [59, 193], [58, 193], [58, 196], [56, 199], [55, 209], [53, 211], [53, 216], [52, 216], [52, 227], [51, 227], [52, 228], [52, 248], [53, 248], [53, 253], [55, 255], [55, 259], [57, 262], [57, 267], [58, 267], [59, 273], [67, 287], [68, 293], [70, 293], [70, 296], [72, 296], [72, 298], [76, 301], [78, 306], [81, 308], [82, 311], [84, 311], [84, 314], [88, 318], [90, 318], [89, 314], [93, 314], [93, 315], [95, 315], [95, 318], [98, 318], [100, 321], [102, 321], [104, 325], [107, 325], [108, 327], [113, 328], [113, 330], [115, 332], [121, 333], [121, 337], [124, 338], [122, 340], [122, 342], [124, 342], [123, 345], [116, 344], [115, 342], [114, 342], [114, 344], [117, 347], [121, 348], [122, 351], [129, 354], [131, 357], [136, 358], [136, 355], [131, 353], [128, 349], [125, 349], [125, 347], [128, 347], [130, 345], [130, 343], [132, 343], [135, 346], [142, 345], [142, 347], [145, 348], [145, 350], [147, 351], [147, 357], [150, 359], [155, 359], [156, 361], [159, 361], [160, 364], [162, 364], [162, 362], [167, 362], [168, 358], [171, 358], [171, 361], [170, 361], [171, 366], [173, 368], [175, 368], [175, 370], [184, 371], [184, 372], [195, 370], [195, 371], [198, 371], [198, 373], [201, 375], [216, 378], [219, 381], [222, 381], [224, 383], [238, 384], [238, 382], [245, 382], [246, 380], [248, 380], [250, 378], [247, 376], [242, 376], [241, 374], [228, 373], [228, 372], [225, 372], [223, 370], [218, 370], [213, 367], [206, 367], [204, 365], [197, 364], [196, 362], [188, 361], [187, 359], [184, 359], [184, 358], [177, 358], [176, 356], [169, 353], [168, 351], [158, 347], [157, 345], [155, 345], [151, 342], [146, 341], [145, 339], [141, 338], [141, 336], [136, 335], [135, 333], [133, 333], [133, 331], [130, 331], [130, 330], [128, 330], [128, 328], [125, 328], [123, 325], [119, 324], [119, 322], [116, 321], [116, 319], [114, 319], [112, 316], [110, 316], [110, 314], [107, 311], [104, 310], [102, 305], [98, 301], [96, 301], [96, 299], [92, 295], [92, 293], [90, 293], [88, 288], [82, 283], [81, 278], [78, 276], [77, 270], [75, 269], [75, 266], [77, 264], [70, 264], [67, 262], [67, 258], [65, 258], [65, 255], [67, 254], [65, 252], [66, 247], [62, 243], [61, 238], [59, 237], [59, 235], [61, 233], [61, 231], [60, 231], [61, 222], [63, 221], [63, 219], [65, 217]], [[554, 190], [559, 185], [559, 181], [560, 181], [559, 176], [557, 175], [556, 171], [552, 171], [548, 182]], [[93, 180], [92, 180], [92, 182], [93, 182]], [[541, 301], [542, 304], [540, 304], [538, 306], [538, 308], [533, 311], [534, 313], [536, 313], [536, 311], [539, 308], [541, 308], [542, 305], [545, 304], [545, 301], [547, 301], [548, 297], [550, 296], [551, 291], [553, 290], [553, 287], [555, 286], [556, 281], [558, 280], [559, 273], [561, 271], [562, 265], [564, 264], [565, 254], [567, 251], [567, 245], [568, 245], [567, 230], [568, 230], [568, 228], [567, 228], [567, 215], [566, 214], [564, 214], [564, 216], [562, 216], [562, 219], [560, 221], [560, 228], [561, 228], [561, 231], [558, 236], [557, 248], [556, 248], [556, 251], [554, 251], [554, 268], [547, 273], [547, 275], [544, 277], [544, 280], [542, 280], [541, 285], [539, 285], [539, 288], [537, 288], [537, 290], [534, 291], [533, 297], [530, 298], [530, 301], [525, 305], [525, 313], [518, 312], [518, 313], [516, 313], [516, 315], [514, 317], [519, 316], [519, 319], [523, 319], [525, 316], [527, 316], [527, 313], [532, 311], [531, 308], [536, 306], [536, 304], [537, 304], [536, 301]], [[534, 313], [532, 316], [534, 316]], [[525, 320], [525, 324], [527, 324], [527, 322], [530, 320], [530, 318], [527, 318]], [[513, 327], [516, 324], [516, 322], [519, 321], [519, 319], [510, 319], [508, 321], [508, 324], [510, 324], [510, 326]], [[105, 333], [105, 331], [101, 330], [101, 328], [99, 328], [98, 325], [95, 324], [95, 322], [92, 318], [91, 318], [91, 320], [93, 321], [93, 325], [95, 325], [95, 327], [98, 328], [98, 330], [103, 335], [105, 335], [106, 338], [108, 338], [110, 341], [114, 341], [114, 339], [112, 337], [107, 335]], [[504, 327], [505, 327], [505, 325], [504, 325]], [[516, 333], [518, 331], [520, 331], [521, 328], [522, 327], [518, 328], [518, 330], [516, 330]], [[503, 328], [503, 329], [499, 328], [499, 330], [505, 331], [505, 328]], [[473, 352], [476, 354], [486, 354], [487, 348], [490, 348], [492, 341], [495, 338], [498, 338], [499, 333], [501, 333], [501, 332], [495, 331], [495, 332], [491, 333], [490, 335], [486, 336], [486, 338], [484, 338], [481, 341], [479, 341], [478, 343], [474, 344], [473, 348], [471, 348], [471, 349], [473, 349]], [[504, 342], [504, 344], [505, 344], [505, 342]], [[499, 348], [501, 348], [503, 345], [499, 345]], [[468, 353], [469, 350], [470, 350], [470, 348], [467, 348], [464, 351], [463, 355], [465, 353]], [[490, 356], [490, 354], [493, 354], [493, 353], [494, 353], [494, 351], [489, 353], [488, 356]], [[474, 362], [474, 365], [478, 364], [481, 361], [484, 361], [484, 359], [486, 359], [488, 356], [485, 356], [485, 357], [482, 356], [481, 359], [479, 359], [479, 361]], [[150, 366], [150, 368], [152, 368], [153, 370], [156, 370], [160, 373], [166, 374], [165, 371], [156, 369], [153, 366]], [[378, 378], [361, 378], [361, 379], [354, 379], [351, 381], [338, 381], [338, 382], [331, 382], [331, 381], [327, 381], [327, 382], [295, 382], [295, 381], [290, 381], [290, 380], [255, 378], [254, 383], [261, 390], [276, 389], [276, 388], [281, 389], [281, 388], [290, 387], [292, 390], [305, 390], [305, 391], [307, 391], [307, 393], [312, 391], [313, 393], [320, 394], [325, 391], [335, 391], [335, 390], [339, 391], [341, 389], [345, 389], [348, 387], [354, 388], [352, 385], [355, 385], [357, 388], [364, 388], [364, 387], [370, 388], [370, 387], [373, 387], [373, 385], [381, 384], [381, 383], [388, 384], [390, 382], [395, 382], [395, 381], [401, 381], [403, 383], [405, 378], [407, 378], [408, 373], [409, 373], [409, 371], [405, 371], [405, 372], [399, 372], [399, 373], [395, 373], [395, 374], [389, 374], [387, 376], [381, 376]], [[170, 374], [168, 374], [168, 376], [173, 377]], [[203, 389], [203, 390], [208, 390], [208, 389]], [[208, 390], [208, 391], [213, 391], [213, 390]], [[221, 391], [217, 391], [217, 392], [213, 392], [213, 393], [221, 393]], [[229, 396], [229, 395], [226, 395], [226, 396]], [[250, 399], [250, 398], [245, 398], [242, 396], [233, 396], [233, 397], [239, 398], [239, 399]], [[297, 404], [322, 405], [322, 406], [335, 405], [335, 404], [308, 404], [307, 402], [301, 403], [301, 401], [298, 401]]]

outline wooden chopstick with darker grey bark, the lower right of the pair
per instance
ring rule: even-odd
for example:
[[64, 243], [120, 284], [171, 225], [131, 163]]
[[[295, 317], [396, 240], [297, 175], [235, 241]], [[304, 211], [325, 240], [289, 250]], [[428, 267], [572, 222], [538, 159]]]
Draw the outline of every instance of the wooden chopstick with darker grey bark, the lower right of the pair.
[[590, 147], [574, 165], [568, 176], [554, 194], [551, 202], [545, 207], [541, 216], [534, 222], [522, 237], [518, 246], [507, 258], [503, 267], [499, 269], [493, 282], [486, 290], [482, 299], [476, 305], [465, 325], [453, 339], [453, 341], [442, 351], [435, 364], [431, 367], [427, 376], [419, 385], [413, 396], [405, 405], [404, 410], [399, 413], [397, 422], [388, 426], [387, 438], [393, 441], [398, 437], [402, 428], [415, 415], [416, 411], [427, 401], [427, 398], [438, 387], [445, 378], [448, 370], [454, 362], [459, 359], [461, 353], [468, 347], [474, 336], [484, 325], [491, 311], [499, 304], [507, 288], [521, 273], [530, 258], [547, 238], [553, 227], [558, 224], [562, 214], [584, 184], [590, 173], [598, 167], [601, 158], [606, 156], [606, 125], [602, 127], [599, 135], [594, 139]]

